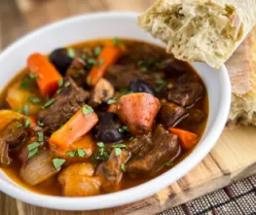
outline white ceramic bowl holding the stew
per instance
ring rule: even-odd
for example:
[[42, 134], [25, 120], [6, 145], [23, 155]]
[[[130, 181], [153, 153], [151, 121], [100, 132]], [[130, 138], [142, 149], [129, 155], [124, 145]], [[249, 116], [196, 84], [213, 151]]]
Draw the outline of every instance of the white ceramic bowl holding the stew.
[[[68, 18], [43, 27], [21, 38], [0, 54], [0, 90], [25, 66], [29, 54], [47, 54], [55, 48], [97, 38], [134, 38], [161, 44], [136, 26], [137, 14], [99, 13]], [[38, 206], [66, 209], [91, 210], [114, 207], [156, 194], [172, 184], [211, 150], [219, 138], [230, 109], [231, 86], [226, 68], [213, 70], [203, 63], [194, 63], [203, 80], [209, 97], [209, 117], [204, 135], [195, 151], [184, 161], [161, 176], [128, 190], [97, 197], [49, 197], [29, 192], [13, 182], [0, 170], [0, 190], [24, 202]]]

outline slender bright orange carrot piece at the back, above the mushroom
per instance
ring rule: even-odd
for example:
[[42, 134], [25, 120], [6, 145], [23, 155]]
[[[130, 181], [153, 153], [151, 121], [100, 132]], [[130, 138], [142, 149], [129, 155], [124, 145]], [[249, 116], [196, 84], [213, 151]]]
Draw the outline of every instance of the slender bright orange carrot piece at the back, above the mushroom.
[[97, 81], [102, 78], [108, 67], [114, 64], [122, 54], [121, 47], [106, 46], [102, 50], [101, 54], [97, 57], [97, 63], [100, 65], [94, 65], [87, 77], [87, 83], [93, 87]]

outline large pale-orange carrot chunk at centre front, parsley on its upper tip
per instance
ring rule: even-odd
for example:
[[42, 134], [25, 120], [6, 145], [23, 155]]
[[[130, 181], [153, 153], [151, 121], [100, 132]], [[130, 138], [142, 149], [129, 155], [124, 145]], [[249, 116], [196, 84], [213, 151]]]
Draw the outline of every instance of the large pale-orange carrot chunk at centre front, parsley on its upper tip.
[[65, 125], [56, 130], [52, 134], [49, 143], [60, 149], [70, 149], [74, 142], [88, 133], [98, 122], [97, 115], [94, 112], [87, 113], [86, 110], [89, 107], [84, 105]]

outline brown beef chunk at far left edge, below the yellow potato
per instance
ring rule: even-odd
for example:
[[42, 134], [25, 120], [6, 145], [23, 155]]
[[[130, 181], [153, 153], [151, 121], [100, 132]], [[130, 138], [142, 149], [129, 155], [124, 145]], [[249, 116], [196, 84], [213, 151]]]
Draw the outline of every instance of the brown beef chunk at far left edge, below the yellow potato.
[[18, 120], [12, 121], [0, 134], [0, 164], [9, 165], [12, 159], [9, 157], [10, 148], [16, 148], [27, 137], [27, 130]]

